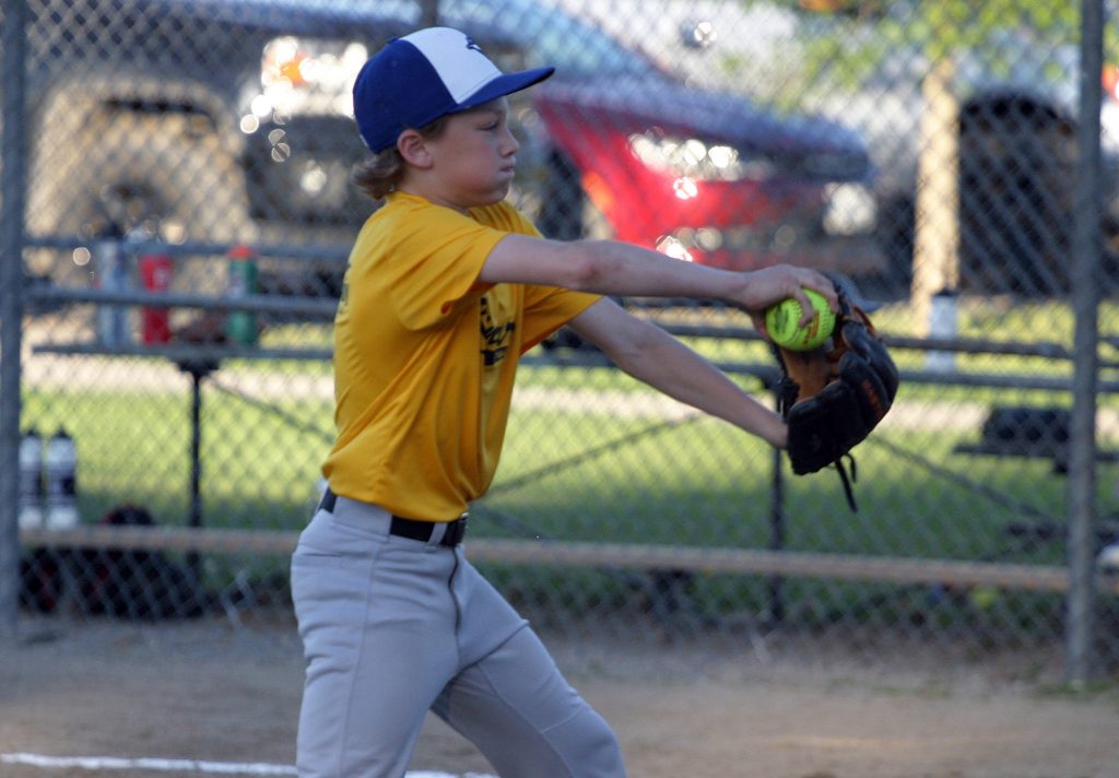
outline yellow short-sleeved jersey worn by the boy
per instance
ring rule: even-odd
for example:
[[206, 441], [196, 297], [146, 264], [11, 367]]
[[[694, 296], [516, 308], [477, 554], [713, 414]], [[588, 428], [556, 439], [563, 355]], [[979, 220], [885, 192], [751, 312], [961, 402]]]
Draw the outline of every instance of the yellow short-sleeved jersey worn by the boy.
[[596, 294], [478, 281], [509, 234], [507, 203], [462, 214], [393, 193], [354, 250], [335, 318], [335, 494], [451, 521], [497, 470], [520, 356]]

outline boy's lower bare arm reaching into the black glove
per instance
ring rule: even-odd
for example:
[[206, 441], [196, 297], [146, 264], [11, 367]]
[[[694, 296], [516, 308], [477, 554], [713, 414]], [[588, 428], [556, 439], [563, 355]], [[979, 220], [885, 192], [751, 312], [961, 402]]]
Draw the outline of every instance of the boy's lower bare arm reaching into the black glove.
[[570, 322], [619, 368], [670, 397], [784, 448], [787, 429], [769, 410], [717, 367], [656, 325], [631, 316], [603, 299]]

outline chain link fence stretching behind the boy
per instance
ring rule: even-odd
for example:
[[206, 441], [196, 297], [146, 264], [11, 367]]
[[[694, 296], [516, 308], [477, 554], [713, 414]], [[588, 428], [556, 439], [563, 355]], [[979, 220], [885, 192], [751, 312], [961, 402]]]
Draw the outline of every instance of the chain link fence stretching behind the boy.
[[[332, 440], [335, 300], [376, 207], [348, 182], [349, 90], [434, 13], [506, 68], [557, 67], [511, 103], [511, 197], [546, 235], [844, 273], [903, 374], [852, 512], [834, 474], [792, 477], [556, 334], [521, 368], [469, 538], [527, 617], [867, 658], [1079, 635], [1116, 666], [1116, 71], [1091, 65], [1099, 28], [1082, 45], [1079, 10], [1041, 0], [9, 0], [26, 45], [0, 88], [26, 100], [3, 129], [26, 140], [2, 170], [22, 269], [0, 601], [288, 615]], [[1081, 84], [1102, 90], [1094, 137]], [[1078, 168], [1084, 134], [1102, 151]], [[1078, 288], [1085, 223], [1101, 251]], [[772, 402], [743, 313], [624, 302]]]

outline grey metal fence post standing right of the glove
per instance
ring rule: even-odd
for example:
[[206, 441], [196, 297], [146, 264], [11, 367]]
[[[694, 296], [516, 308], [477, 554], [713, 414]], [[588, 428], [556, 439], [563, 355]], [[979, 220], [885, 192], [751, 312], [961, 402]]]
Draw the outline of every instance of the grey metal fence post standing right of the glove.
[[1081, 4], [1080, 116], [1076, 126], [1076, 207], [1072, 293], [1075, 310], [1072, 429], [1069, 451], [1069, 621], [1066, 675], [1084, 683], [1092, 672], [1096, 524], [1096, 392], [1099, 341], [1100, 99], [1103, 2]]

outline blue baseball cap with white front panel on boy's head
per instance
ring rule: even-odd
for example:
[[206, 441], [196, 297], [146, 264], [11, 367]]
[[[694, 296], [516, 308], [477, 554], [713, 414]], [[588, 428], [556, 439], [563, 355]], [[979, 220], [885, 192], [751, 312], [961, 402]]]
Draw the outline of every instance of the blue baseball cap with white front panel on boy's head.
[[374, 153], [395, 146], [401, 132], [476, 107], [544, 81], [554, 67], [501, 73], [467, 35], [429, 27], [394, 38], [354, 83], [354, 118]]

